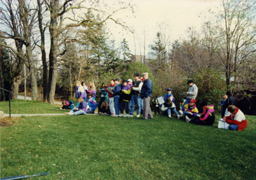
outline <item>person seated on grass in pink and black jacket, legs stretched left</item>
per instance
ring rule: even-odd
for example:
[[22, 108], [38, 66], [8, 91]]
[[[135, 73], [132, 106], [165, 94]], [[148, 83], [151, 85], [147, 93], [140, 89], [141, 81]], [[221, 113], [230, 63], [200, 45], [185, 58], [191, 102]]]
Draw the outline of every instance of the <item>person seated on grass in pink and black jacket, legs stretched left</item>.
[[202, 103], [204, 112], [200, 114], [200, 117], [196, 116], [193, 119], [188, 119], [188, 123], [195, 123], [198, 125], [212, 126], [215, 121], [214, 105], [207, 105], [207, 102]]

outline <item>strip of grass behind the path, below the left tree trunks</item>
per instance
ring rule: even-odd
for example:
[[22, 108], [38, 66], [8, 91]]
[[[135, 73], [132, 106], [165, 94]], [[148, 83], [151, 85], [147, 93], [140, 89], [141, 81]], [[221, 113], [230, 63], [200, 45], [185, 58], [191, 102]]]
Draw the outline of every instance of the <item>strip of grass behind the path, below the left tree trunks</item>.
[[[9, 113], [9, 101], [0, 102], [0, 110]], [[13, 114], [62, 114], [68, 110], [60, 110], [60, 106], [50, 105], [42, 101], [12, 100], [11, 113]]]

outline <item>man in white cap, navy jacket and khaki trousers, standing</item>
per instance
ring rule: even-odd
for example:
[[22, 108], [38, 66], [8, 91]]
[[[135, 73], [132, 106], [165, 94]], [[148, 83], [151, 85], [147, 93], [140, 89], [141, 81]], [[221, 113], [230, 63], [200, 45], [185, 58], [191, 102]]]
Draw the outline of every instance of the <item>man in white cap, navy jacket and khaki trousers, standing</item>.
[[148, 78], [148, 73], [143, 73], [143, 86], [141, 87], [140, 97], [143, 98], [143, 119], [153, 119], [153, 115], [150, 109], [150, 97], [153, 93], [152, 81]]

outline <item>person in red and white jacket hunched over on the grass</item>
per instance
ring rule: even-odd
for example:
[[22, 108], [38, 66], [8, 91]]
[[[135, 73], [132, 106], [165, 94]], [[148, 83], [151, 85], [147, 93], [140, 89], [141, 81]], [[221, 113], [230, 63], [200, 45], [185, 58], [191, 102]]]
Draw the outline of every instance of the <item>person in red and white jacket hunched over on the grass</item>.
[[223, 117], [222, 121], [226, 121], [230, 124], [229, 130], [243, 131], [247, 126], [247, 121], [243, 112], [234, 105], [228, 106], [228, 112], [231, 113], [230, 116]]

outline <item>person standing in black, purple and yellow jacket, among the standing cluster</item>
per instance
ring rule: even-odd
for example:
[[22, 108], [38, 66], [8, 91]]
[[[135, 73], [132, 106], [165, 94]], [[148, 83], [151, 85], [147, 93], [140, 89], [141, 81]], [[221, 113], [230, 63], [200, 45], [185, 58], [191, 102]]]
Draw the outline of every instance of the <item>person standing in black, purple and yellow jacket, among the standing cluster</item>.
[[130, 117], [129, 116], [129, 101], [131, 100], [131, 87], [128, 85], [127, 80], [122, 80], [123, 86], [122, 86], [122, 93], [120, 96], [120, 116], [123, 116], [124, 109], [125, 109], [125, 116], [124, 117]]

